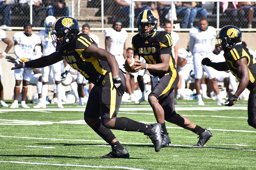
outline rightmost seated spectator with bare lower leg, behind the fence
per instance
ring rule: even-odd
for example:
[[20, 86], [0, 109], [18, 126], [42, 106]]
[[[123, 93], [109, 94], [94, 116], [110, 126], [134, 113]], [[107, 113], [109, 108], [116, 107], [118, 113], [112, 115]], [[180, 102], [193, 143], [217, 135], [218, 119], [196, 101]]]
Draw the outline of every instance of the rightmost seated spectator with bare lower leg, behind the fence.
[[239, 6], [242, 6], [246, 14], [248, 14], [248, 28], [252, 28], [253, 13], [256, 10], [255, 2], [238, 2]]

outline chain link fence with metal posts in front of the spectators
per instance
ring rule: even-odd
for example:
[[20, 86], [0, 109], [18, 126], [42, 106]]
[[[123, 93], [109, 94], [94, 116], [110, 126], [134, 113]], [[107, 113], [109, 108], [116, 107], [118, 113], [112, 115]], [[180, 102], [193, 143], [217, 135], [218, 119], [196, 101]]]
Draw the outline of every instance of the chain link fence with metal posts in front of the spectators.
[[[68, 15], [74, 17], [80, 27], [88, 23], [92, 28], [103, 30], [111, 27], [113, 21], [119, 18], [123, 21], [124, 28], [132, 30], [132, 28], [137, 28], [136, 18], [144, 9], [156, 12], [159, 25], [163, 26], [165, 22], [172, 22], [174, 28], [182, 28], [184, 31], [188, 31], [187, 29], [191, 26], [198, 26], [198, 21], [202, 17], [207, 17], [209, 25], [215, 28], [235, 25], [254, 31], [253, 28], [256, 27], [255, 2], [233, 4], [234, 2], [218, 1], [191, 3], [163, 0], [152, 2], [146, 0], [140, 2], [137, 0], [42, 0], [42, 3], [37, 5], [35, 1], [9, 0], [8, 3], [2, 1], [2, 6], [0, 5], [1, 28], [7, 26], [6, 29], [15, 30], [19, 27], [22, 29], [24, 23], [30, 22], [33, 23], [34, 29], [39, 29], [44, 27], [44, 18], [48, 15], [56, 18]], [[186, 7], [189, 5], [194, 8]]]

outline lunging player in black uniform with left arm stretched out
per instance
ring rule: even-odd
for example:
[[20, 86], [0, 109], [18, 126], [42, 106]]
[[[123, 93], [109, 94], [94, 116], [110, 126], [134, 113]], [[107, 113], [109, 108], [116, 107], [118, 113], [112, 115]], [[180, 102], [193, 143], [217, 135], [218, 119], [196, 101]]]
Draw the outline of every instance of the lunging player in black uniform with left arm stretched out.
[[95, 85], [89, 95], [84, 120], [112, 146], [112, 151], [102, 157], [130, 156], [110, 129], [143, 132], [152, 140], [155, 151], [158, 152], [162, 143], [159, 123], [147, 125], [126, 117], [116, 117], [125, 90], [125, 77], [118, 69], [115, 56], [98, 48], [87, 34], [79, 34], [78, 22], [71, 17], [57, 19], [52, 26], [51, 36], [56, 52], [25, 63], [8, 56], [7, 61], [15, 64], [12, 70], [24, 67], [42, 68], [66, 60], [73, 69]]

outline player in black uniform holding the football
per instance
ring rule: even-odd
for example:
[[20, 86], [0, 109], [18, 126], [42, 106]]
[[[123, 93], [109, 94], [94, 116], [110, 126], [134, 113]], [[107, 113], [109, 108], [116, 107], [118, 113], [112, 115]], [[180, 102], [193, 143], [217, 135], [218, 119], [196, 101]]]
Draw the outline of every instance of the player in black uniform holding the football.
[[154, 89], [148, 95], [148, 102], [154, 111], [156, 121], [162, 125], [162, 145], [170, 144], [165, 122], [174, 123], [184, 129], [199, 135], [195, 146], [204, 146], [212, 137], [212, 133], [190, 122], [188, 118], [179, 115], [174, 109], [173, 90], [179, 82], [178, 70], [172, 57], [172, 38], [166, 31], [156, 31], [157, 18], [153, 11], [142, 11], [137, 19], [138, 31], [132, 38], [134, 58], [143, 57], [146, 63], [137, 61], [137, 71], [148, 69], [153, 75]]

